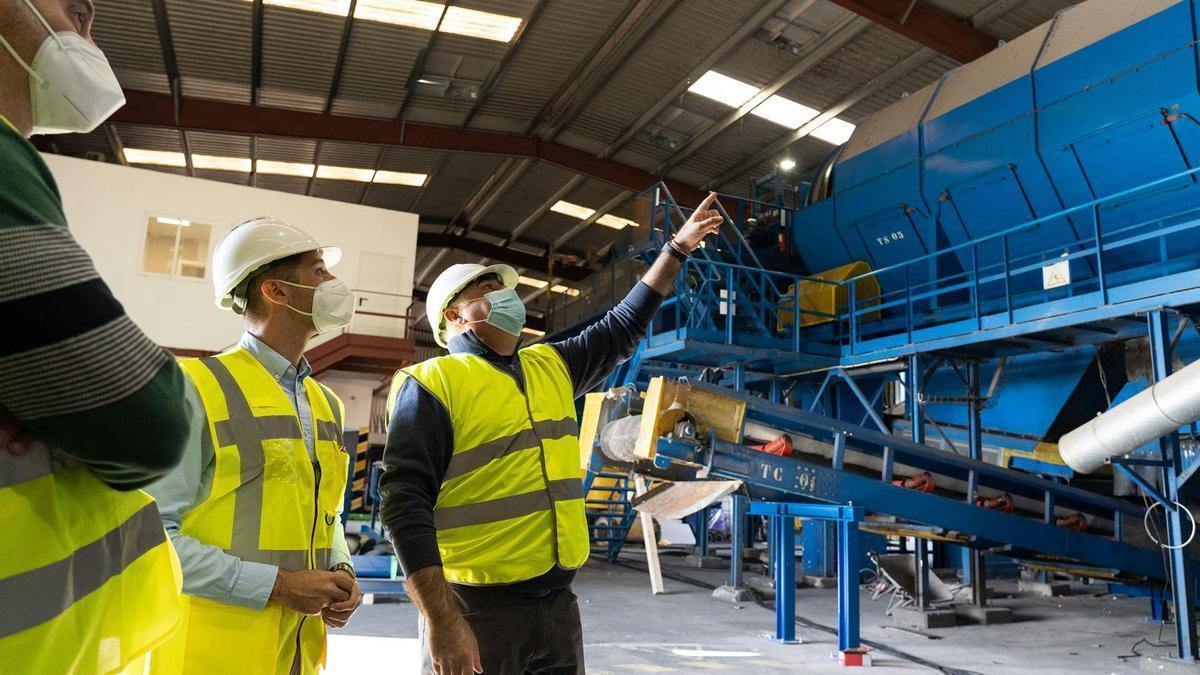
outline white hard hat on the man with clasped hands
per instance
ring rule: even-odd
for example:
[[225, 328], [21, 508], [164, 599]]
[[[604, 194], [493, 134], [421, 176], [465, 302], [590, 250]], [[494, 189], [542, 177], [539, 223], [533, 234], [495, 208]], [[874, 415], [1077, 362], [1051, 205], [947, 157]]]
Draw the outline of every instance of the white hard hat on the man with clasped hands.
[[212, 253], [212, 287], [217, 307], [233, 310], [234, 289], [258, 268], [316, 250], [323, 252], [325, 267], [334, 267], [342, 259], [341, 249], [324, 246], [299, 227], [276, 217], [256, 217], [235, 226], [221, 238]]

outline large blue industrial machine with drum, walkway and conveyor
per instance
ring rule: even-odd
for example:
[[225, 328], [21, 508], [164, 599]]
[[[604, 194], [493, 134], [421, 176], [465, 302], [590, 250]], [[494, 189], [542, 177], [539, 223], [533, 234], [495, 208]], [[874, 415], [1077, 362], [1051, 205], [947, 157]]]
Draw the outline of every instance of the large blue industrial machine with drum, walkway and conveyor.
[[[1198, 35], [1200, 0], [1076, 5], [864, 120], [799, 192], [770, 177], [755, 199], [722, 197], [720, 235], [684, 264], [611, 384], [686, 377], [745, 405], [734, 436], [697, 424], [642, 459], [745, 483], [750, 513], [776, 522], [780, 616], [792, 611], [785, 519], [877, 531], [887, 514], [971, 551], [976, 604], [996, 551], [1140, 585], [1156, 613], [1174, 607], [1178, 656], [1196, 658], [1194, 425], [1115, 460], [1115, 474], [1075, 473], [1057, 442], [1200, 358]], [[640, 258], [583, 289], [575, 303], [590, 313], [552, 309], [570, 315], [559, 325], [618, 300], [689, 213], [665, 185], [646, 196]], [[791, 237], [784, 257], [748, 235], [767, 213]], [[763, 429], [806, 441], [767, 454], [749, 442]], [[923, 473], [930, 492], [906, 484]], [[1156, 519], [1165, 532], [1146, 533], [1162, 545], [1142, 532]], [[845, 567], [856, 537], [838, 542]], [[850, 596], [844, 649], [857, 646]]]

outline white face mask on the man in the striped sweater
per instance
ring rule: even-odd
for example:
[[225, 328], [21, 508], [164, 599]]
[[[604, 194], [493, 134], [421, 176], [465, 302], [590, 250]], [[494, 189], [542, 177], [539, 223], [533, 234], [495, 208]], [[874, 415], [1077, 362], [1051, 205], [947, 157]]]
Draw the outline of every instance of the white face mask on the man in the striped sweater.
[[54, 32], [31, 0], [24, 0], [49, 37], [25, 64], [4, 36], [0, 46], [29, 72], [34, 135], [88, 133], [125, 104], [125, 94], [108, 59], [82, 35]]

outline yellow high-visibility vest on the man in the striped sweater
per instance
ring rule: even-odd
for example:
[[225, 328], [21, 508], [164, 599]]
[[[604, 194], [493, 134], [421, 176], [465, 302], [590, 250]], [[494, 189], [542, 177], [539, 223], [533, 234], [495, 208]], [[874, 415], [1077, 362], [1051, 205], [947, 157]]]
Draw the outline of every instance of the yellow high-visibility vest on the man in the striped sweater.
[[150, 495], [0, 449], [0, 673], [140, 673], [179, 627], [182, 574]]

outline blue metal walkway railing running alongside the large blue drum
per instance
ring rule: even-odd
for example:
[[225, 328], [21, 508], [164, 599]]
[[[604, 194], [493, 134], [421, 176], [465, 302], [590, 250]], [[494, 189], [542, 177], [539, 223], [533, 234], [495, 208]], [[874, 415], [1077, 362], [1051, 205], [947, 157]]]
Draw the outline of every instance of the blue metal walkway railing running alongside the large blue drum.
[[[1200, 168], [1178, 172], [841, 281], [764, 269], [739, 225], [721, 208], [726, 222], [715, 245], [690, 258], [676, 282], [676, 298], [667, 305], [673, 321], [656, 324], [721, 331], [722, 341], [730, 345], [739, 334], [751, 333], [788, 340], [797, 352], [805, 351], [809, 341], [818, 341], [856, 354], [864, 340], [902, 334], [911, 342], [914, 333], [946, 323], [973, 322], [976, 330], [1012, 325], [1019, 318], [1019, 310], [1087, 293], [1094, 293], [1087, 306], [1100, 307], [1110, 303], [1114, 286], [1165, 276], [1172, 273], [1170, 263], [1200, 257], [1200, 244], [1168, 245], [1168, 238], [1200, 229], [1196, 198], [1153, 217], [1129, 219], [1114, 209], [1130, 197], [1175, 187], [1183, 180], [1195, 181], [1198, 173]], [[677, 221], [685, 221], [692, 209], [679, 205], [665, 185], [647, 192], [655, 196], [650, 225], [652, 241], [658, 246], [674, 234]], [[1178, 193], [1165, 192], [1151, 196], [1162, 195], [1180, 198]], [[1106, 223], [1106, 209], [1124, 221]], [[743, 210], [738, 208], [739, 213]], [[1028, 235], [1039, 228], [1058, 235], [1057, 239], [1031, 247]], [[1078, 234], [1080, 231], [1085, 234]], [[1018, 238], [1025, 240], [1014, 246]], [[1136, 256], [1115, 255], [1139, 246], [1145, 250]], [[1020, 251], [1014, 253], [1014, 249]], [[1044, 288], [1043, 269], [1062, 262], [1069, 265], [1069, 283]], [[860, 289], [871, 280], [878, 282], [881, 291], [863, 295]], [[804, 309], [802, 285], [830, 287], [838, 299], [834, 311]], [[613, 287], [607, 295], [596, 297], [614, 304], [623, 292], [618, 294]], [[989, 318], [985, 325], [985, 316], [998, 319]], [[802, 328], [812, 323], [803, 317], [832, 327], [820, 336], [802, 339]]]

